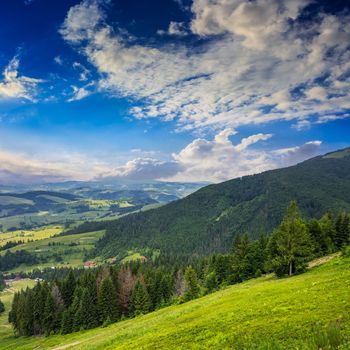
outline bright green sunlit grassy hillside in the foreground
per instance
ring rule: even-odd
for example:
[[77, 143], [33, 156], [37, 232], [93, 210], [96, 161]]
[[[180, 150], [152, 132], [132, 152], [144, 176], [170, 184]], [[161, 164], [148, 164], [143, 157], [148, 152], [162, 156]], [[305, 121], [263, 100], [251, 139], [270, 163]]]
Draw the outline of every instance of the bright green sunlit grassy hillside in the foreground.
[[350, 259], [286, 279], [269, 275], [106, 328], [65, 336], [0, 339], [2, 349], [317, 349], [338, 321], [350, 335]]

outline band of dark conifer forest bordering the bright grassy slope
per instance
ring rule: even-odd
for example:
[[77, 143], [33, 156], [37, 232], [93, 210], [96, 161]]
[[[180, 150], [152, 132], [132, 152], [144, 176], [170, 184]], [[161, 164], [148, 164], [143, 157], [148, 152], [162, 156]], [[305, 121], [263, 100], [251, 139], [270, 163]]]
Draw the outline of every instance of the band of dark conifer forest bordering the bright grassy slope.
[[350, 243], [350, 216], [304, 221], [292, 202], [270, 236], [235, 235], [229, 254], [193, 259], [191, 265], [157, 261], [102, 266], [39, 282], [16, 293], [9, 321], [18, 335], [67, 334], [182, 303], [265, 273], [301, 273], [307, 262]]

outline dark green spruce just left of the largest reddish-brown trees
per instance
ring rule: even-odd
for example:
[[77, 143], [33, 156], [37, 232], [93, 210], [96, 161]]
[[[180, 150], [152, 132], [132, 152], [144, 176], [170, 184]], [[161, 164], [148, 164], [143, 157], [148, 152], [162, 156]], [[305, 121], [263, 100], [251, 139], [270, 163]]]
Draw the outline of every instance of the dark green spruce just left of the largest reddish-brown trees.
[[108, 318], [111, 322], [119, 318], [118, 296], [110, 277], [102, 281], [98, 297], [98, 311], [102, 323]]

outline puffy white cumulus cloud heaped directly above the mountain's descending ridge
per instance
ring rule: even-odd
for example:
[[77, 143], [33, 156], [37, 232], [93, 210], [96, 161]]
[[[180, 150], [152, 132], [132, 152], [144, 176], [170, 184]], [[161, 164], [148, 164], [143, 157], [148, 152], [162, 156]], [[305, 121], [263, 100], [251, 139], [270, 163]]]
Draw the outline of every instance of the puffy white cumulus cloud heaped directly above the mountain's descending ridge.
[[263, 151], [251, 146], [269, 140], [271, 134], [256, 134], [234, 144], [233, 129], [219, 132], [212, 140], [197, 138], [180, 152], [172, 154], [171, 161], [137, 158], [110, 171], [109, 179], [211, 181], [221, 182], [244, 175], [289, 166], [320, 153], [321, 141], [310, 141], [301, 146]]

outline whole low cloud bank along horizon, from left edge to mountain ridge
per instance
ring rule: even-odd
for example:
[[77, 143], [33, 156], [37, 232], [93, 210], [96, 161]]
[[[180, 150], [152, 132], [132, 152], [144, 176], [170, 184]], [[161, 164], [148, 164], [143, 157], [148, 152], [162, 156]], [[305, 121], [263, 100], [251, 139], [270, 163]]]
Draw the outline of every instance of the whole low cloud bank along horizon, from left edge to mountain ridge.
[[[30, 156], [0, 151], [0, 183], [40, 183], [64, 180], [167, 180], [221, 182], [289, 166], [320, 153], [321, 141], [292, 148], [264, 151], [254, 147], [268, 142], [271, 134], [255, 134], [233, 143], [236, 132], [227, 128], [211, 140], [196, 138], [170, 159], [157, 153], [132, 150], [124, 164], [117, 157], [98, 160], [91, 155], [56, 152]], [[259, 147], [260, 148], [260, 147]]]

